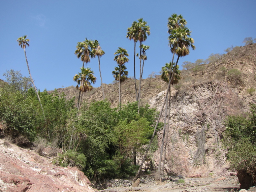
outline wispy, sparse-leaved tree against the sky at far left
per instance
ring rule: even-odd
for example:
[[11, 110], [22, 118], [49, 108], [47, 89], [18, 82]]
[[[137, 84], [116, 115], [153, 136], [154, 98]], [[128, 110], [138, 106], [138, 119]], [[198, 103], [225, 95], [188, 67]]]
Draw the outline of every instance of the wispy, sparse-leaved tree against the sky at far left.
[[21, 71], [15, 71], [14, 69], [7, 70], [3, 74], [6, 78], [6, 82], [16, 91], [26, 93], [33, 87], [30, 77], [23, 77]]

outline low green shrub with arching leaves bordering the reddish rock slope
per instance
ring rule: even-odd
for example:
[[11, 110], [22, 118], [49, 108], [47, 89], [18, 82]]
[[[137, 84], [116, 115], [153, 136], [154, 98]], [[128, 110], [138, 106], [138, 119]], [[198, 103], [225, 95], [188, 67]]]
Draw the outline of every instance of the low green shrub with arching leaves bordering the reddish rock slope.
[[59, 154], [55, 163], [63, 167], [76, 167], [79, 170], [85, 168], [87, 160], [84, 154], [76, 153], [73, 150], [67, 150], [63, 154]]

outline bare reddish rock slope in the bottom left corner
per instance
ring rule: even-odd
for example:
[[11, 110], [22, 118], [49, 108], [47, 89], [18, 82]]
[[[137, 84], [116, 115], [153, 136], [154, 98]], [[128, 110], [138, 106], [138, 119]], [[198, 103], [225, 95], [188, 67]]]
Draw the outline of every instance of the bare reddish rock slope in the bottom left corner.
[[0, 139], [0, 189], [11, 192], [97, 191], [82, 171], [60, 167], [35, 152]]

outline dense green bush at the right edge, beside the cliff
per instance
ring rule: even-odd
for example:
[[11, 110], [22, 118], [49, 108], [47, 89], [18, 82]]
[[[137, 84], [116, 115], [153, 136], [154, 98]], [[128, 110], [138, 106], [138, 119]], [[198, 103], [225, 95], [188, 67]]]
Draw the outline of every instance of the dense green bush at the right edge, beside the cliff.
[[225, 126], [222, 141], [231, 167], [251, 174], [256, 181], [256, 105], [251, 105], [247, 117], [229, 116]]

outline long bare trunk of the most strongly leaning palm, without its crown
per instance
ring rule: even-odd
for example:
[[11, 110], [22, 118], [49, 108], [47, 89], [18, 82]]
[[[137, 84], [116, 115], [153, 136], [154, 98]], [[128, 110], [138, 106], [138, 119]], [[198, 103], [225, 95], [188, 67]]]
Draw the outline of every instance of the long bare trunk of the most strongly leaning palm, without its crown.
[[[180, 58], [180, 56], [178, 56], [177, 62], [176, 62], [176, 64], [175, 64], [174, 71], [175, 71], [176, 66], [177, 66], [177, 64], [178, 64], [179, 58]], [[158, 117], [158, 119], [157, 119], [154, 132], [153, 132], [152, 137], [151, 137], [150, 142], [149, 142], [149, 146], [148, 146], [148, 148], [147, 148], [147, 150], [146, 150], [146, 153], [145, 153], [145, 155], [144, 155], [144, 157], [143, 157], [143, 159], [142, 159], [142, 161], [141, 161], [141, 164], [140, 164], [140, 166], [139, 166], [139, 170], [137, 171], [137, 174], [135, 175], [135, 177], [134, 177], [134, 179], [133, 179], [133, 183], [138, 179], [139, 173], [140, 173], [140, 171], [141, 171], [141, 168], [142, 168], [142, 166], [143, 166], [143, 164], [144, 164], [144, 162], [145, 162], [145, 159], [146, 159], [146, 157], [147, 157], [147, 155], [148, 155], [149, 148], [150, 148], [151, 143], [152, 143], [152, 141], [153, 141], [153, 138], [154, 138], [154, 136], [155, 136], [156, 129], [157, 129], [157, 126], [158, 126], [160, 117], [161, 117], [162, 112], [163, 112], [163, 108], [164, 108], [164, 105], [165, 105], [165, 101], [166, 101], [166, 99], [167, 99], [168, 91], [169, 91], [169, 88], [170, 88], [171, 81], [172, 81], [173, 77], [174, 77], [174, 73], [172, 73], [172, 74], [170, 73], [170, 74], [169, 74], [169, 83], [168, 83], [167, 91], [166, 91], [166, 94], [165, 94], [163, 106], [162, 106], [162, 108], [161, 108], [161, 110], [160, 110], [159, 117]]]

